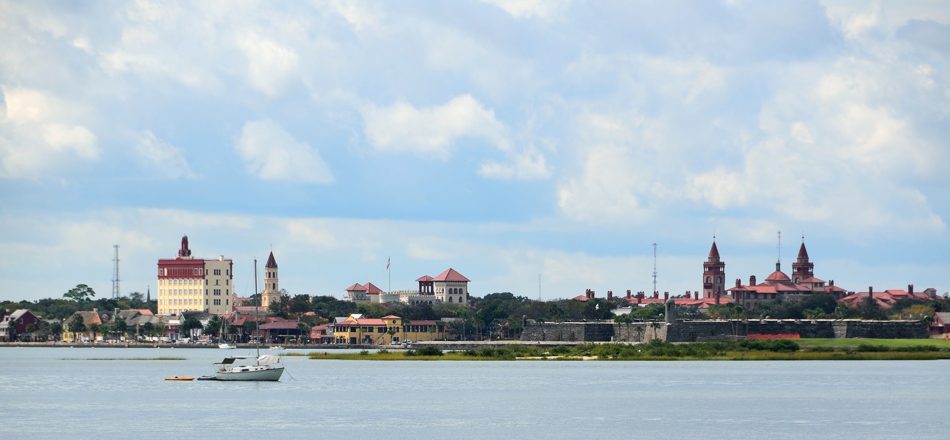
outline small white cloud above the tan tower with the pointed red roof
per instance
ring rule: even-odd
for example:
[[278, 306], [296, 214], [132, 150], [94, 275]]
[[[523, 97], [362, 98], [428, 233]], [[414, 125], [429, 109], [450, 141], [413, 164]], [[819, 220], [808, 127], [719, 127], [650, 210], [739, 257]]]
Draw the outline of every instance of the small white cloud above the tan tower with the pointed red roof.
[[248, 172], [264, 181], [333, 182], [320, 153], [270, 119], [244, 123], [235, 151]]

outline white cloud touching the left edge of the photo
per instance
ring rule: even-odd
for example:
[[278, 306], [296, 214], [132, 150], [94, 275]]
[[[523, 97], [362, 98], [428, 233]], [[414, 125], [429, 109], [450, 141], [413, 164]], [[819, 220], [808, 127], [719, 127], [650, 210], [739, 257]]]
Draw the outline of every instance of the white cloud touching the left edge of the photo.
[[96, 135], [82, 123], [80, 105], [30, 88], [3, 87], [0, 178], [35, 179], [72, 160], [99, 159]]

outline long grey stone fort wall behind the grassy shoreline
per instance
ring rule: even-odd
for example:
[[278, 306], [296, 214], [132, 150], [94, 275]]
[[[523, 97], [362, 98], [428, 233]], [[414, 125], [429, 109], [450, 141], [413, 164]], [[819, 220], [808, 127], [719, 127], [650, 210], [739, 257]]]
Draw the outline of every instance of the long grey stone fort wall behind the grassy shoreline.
[[[618, 324], [606, 322], [528, 323], [523, 341], [637, 342], [658, 337], [670, 342], [696, 342], [731, 335], [801, 335], [814, 338], [868, 337], [925, 339], [923, 321], [861, 321], [857, 319], [750, 319], [731, 321], [676, 321]], [[637, 331], [637, 329], [642, 331]], [[655, 336], [656, 335], [656, 336]]]

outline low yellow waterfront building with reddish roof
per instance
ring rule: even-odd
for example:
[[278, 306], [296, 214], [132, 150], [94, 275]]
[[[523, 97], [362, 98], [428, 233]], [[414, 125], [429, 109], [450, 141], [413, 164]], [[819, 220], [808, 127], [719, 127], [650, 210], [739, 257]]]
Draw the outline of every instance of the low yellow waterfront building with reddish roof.
[[429, 341], [447, 338], [446, 324], [433, 320], [409, 320], [399, 316], [367, 318], [352, 315], [333, 325], [337, 344], [380, 344], [404, 340]]

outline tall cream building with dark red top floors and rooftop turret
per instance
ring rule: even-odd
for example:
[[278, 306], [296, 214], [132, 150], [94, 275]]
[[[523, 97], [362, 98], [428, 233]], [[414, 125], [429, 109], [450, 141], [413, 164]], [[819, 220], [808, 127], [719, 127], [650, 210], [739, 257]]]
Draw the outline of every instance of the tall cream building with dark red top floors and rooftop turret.
[[237, 300], [233, 279], [231, 259], [195, 258], [188, 248], [188, 236], [184, 236], [178, 257], [159, 259], [159, 315], [188, 311], [230, 314]]

